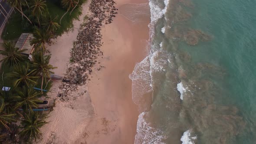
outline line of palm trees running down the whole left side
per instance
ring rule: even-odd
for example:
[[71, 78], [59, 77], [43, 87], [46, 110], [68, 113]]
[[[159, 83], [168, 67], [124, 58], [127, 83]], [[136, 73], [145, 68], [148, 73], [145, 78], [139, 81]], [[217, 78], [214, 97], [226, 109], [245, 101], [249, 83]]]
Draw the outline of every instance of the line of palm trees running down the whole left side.
[[[7, 2], [23, 19], [26, 19], [34, 27], [31, 45], [34, 45], [33, 61], [31, 62], [23, 52], [26, 49], [18, 49], [15, 43], [4, 41], [2, 43], [3, 55], [2, 68], [11, 69], [8, 73], [2, 73], [1, 79], [9, 79], [12, 82], [10, 91], [0, 90], [0, 143], [27, 143], [36, 140], [41, 128], [47, 122], [43, 112], [33, 111], [38, 108], [39, 97], [43, 94], [43, 83], [49, 82], [50, 75], [56, 69], [49, 64], [51, 55], [46, 49], [55, 32], [60, 28], [62, 18], [85, 0], [59, 0], [66, 13], [62, 15], [59, 22], [52, 17], [47, 9], [46, 0], [3, 0]], [[0, 4], [0, 7], [2, 5]], [[27, 16], [24, 10], [29, 11]], [[10, 17], [9, 15], [6, 18]], [[41, 92], [33, 87], [41, 81]], [[4, 86], [4, 85], [2, 85]], [[22, 109], [22, 111], [20, 111]]]

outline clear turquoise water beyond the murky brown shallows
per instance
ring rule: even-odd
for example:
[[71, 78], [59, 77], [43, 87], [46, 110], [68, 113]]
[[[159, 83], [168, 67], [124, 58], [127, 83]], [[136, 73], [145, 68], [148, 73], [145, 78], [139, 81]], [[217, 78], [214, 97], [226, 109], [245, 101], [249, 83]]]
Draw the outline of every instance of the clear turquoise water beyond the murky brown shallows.
[[[256, 1], [253, 0], [194, 0], [197, 11], [190, 20], [214, 36], [200, 55], [209, 56], [195, 61], [213, 61], [226, 69], [226, 84], [219, 101], [232, 104], [239, 109], [246, 123], [245, 131], [237, 135], [236, 144], [256, 142]], [[203, 49], [203, 46], [198, 46]], [[197, 49], [197, 48], [196, 48]], [[195, 52], [191, 52], [196, 56]]]

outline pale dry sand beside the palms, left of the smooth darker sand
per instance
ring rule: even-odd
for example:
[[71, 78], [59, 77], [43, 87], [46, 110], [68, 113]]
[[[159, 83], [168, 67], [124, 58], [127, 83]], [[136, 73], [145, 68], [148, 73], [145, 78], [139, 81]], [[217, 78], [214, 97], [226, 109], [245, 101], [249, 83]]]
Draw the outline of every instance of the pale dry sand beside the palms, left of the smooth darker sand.
[[[55, 39], [51, 46], [47, 46], [47, 49], [49, 49], [52, 54], [50, 64], [58, 67], [54, 69], [56, 75], [64, 76], [66, 73], [67, 65], [69, 64], [70, 50], [73, 47], [73, 41], [76, 40], [76, 36], [79, 33], [79, 27], [83, 22], [83, 17], [88, 13], [89, 3], [90, 1], [83, 5], [82, 15], [79, 17], [80, 21], [74, 21], [73, 31], [64, 33], [62, 36]], [[52, 100], [57, 98], [59, 85], [60, 81], [53, 82], [51, 92], [48, 93]], [[79, 89], [79, 92], [73, 95], [76, 96], [84, 92], [85, 89], [86, 86], [83, 86]], [[71, 144], [78, 139], [78, 137], [82, 137], [82, 130], [90, 121], [90, 116], [93, 113], [92, 105], [90, 104], [90, 98], [87, 94], [78, 97], [77, 100], [70, 100], [65, 103], [59, 101], [57, 98], [56, 107], [46, 120], [49, 121], [49, 123], [41, 128], [43, 133], [42, 139], [37, 142], [46, 144], [56, 139], [54, 142], [57, 144]], [[53, 138], [54, 136], [55, 138]]]

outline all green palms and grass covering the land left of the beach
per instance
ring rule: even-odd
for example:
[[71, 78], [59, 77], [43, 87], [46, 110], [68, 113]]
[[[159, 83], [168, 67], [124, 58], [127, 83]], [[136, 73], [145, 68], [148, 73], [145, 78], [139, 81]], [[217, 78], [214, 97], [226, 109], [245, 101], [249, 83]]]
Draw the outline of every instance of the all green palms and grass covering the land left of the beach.
[[[50, 75], [56, 68], [49, 64], [51, 55], [47, 54], [46, 43], [72, 28], [72, 20], [79, 17], [80, 6], [86, 0], [3, 1], [16, 13], [3, 30], [2, 38], [8, 41], [0, 50], [4, 56], [0, 60], [0, 88], [10, 87], [10, 91], [0, 90], [0, 143], [32, 143], [41, 134], [39, 128], [47, 123], [45, 114], [33, 108], [39, 107], [39, 98], [47, 98], [43, 89], [51, 88]], [[33, 33], [33, 62], [13, 43], [21, 33]], [[34, 87], [41, 88], [41, 92]]]

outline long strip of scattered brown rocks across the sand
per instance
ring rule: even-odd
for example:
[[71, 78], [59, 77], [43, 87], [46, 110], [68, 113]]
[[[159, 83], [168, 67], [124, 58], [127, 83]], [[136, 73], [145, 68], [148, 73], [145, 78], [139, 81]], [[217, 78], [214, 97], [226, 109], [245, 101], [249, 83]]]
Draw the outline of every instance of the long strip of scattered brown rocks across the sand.
[[[59, 86], [58, 97], [61, 101], [75, 100], [77, 96], [84, 95], [84, 92], [78, 93], [79, 85], [85, 85], [89, 75], [94, 70], [100, 70], [103, 66], [99, 65], [97, 58], [103, 58], [101, 27], [105, 24], [112, 23], [113, 17], [117, 14], [113, 0], [91, 0], [89, 9], [90, 16], [81, 26], [82, 30], [74, 42], [71, 50], [71, 62], [66, 71], [66, 75]], [[76, 93], [77, 96], [72, 95]]]

